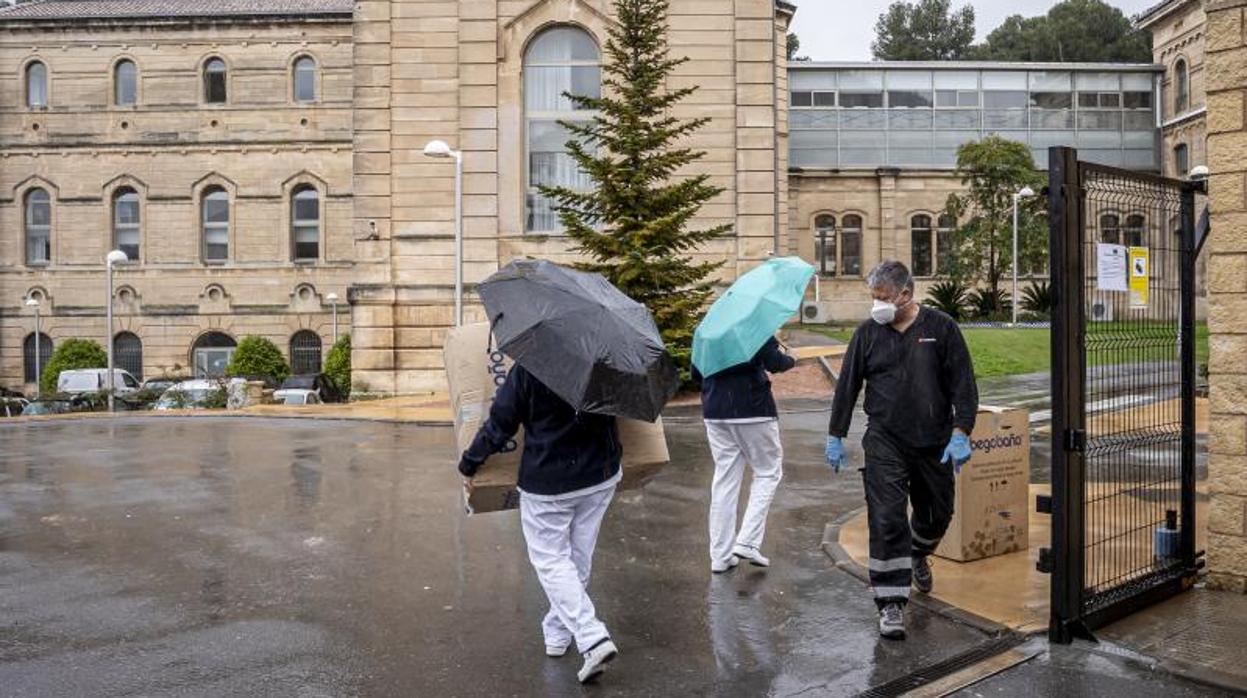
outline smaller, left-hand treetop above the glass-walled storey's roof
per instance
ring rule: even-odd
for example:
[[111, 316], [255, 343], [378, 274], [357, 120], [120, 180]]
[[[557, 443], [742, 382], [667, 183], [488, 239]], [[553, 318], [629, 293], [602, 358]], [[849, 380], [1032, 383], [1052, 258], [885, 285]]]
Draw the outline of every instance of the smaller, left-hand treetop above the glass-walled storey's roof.
[[879, 15], [870, 45], [882, 61], [955, 61], [974, 42], [974, 7], [951, 0], [897, 1]]

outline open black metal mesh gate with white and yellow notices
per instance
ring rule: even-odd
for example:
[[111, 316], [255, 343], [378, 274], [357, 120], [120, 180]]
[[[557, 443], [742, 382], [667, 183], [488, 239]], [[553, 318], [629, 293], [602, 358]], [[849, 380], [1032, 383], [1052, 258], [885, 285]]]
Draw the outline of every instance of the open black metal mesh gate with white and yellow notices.
[[1195, 194], [1200, 184], [1049, 166], [1050, 638], [1190, 587], [1195, 543]]

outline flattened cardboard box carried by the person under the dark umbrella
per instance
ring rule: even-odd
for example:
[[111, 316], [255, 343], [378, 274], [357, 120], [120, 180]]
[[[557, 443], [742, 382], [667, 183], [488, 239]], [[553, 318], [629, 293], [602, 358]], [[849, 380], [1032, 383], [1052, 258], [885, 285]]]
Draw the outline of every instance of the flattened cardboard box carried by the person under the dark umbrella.
[[[456, 452], [461, 454], [489, 416], [494, 393], [506, 379], [511, 361], [501, 351], [493, 349], [489, 323], [451, 329], [446, 335], [445, 359], [450, 409], [455, 419]], [[619, 429], [624, 446], [624, 481], [620, 487], [640, 487], [671, 460], [662, 421], [650, 424], [621, 419]], [[506, 511], [520, 506], [516, 480], [522, 451], [521, 429], [505, 452], [495, 454], [476, 472], [473, 492], [464, 502], [468, 514]]]

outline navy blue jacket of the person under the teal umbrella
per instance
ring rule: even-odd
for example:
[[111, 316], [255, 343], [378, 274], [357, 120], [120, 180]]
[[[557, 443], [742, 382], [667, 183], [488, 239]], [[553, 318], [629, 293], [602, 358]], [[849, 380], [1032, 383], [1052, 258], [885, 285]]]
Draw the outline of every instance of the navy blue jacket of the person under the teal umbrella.
[[702, 416], [705, 419], [779, 418], [771, 378], [767, 373], [783, 373], [797, 365], [784, 354], [776, 338], [771, 338], [747, 364], [737, 364], [715, 375], [693, 378], [702, 381]]

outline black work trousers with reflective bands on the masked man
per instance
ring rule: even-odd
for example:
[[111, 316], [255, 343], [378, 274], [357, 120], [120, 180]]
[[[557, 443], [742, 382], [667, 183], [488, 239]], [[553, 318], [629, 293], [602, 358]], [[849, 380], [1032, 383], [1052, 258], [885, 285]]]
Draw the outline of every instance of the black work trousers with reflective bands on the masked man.
[[[868, 429], [865, 505], [870, 528], [870, 587], [874, 601], [909, 601], [913, 558], [935, 552], [953, 519], [953, 464], [940, 462], [941, 446], [915, 449], [880, 429]], [[913, 506], [913, 516], [909, 507]]]

